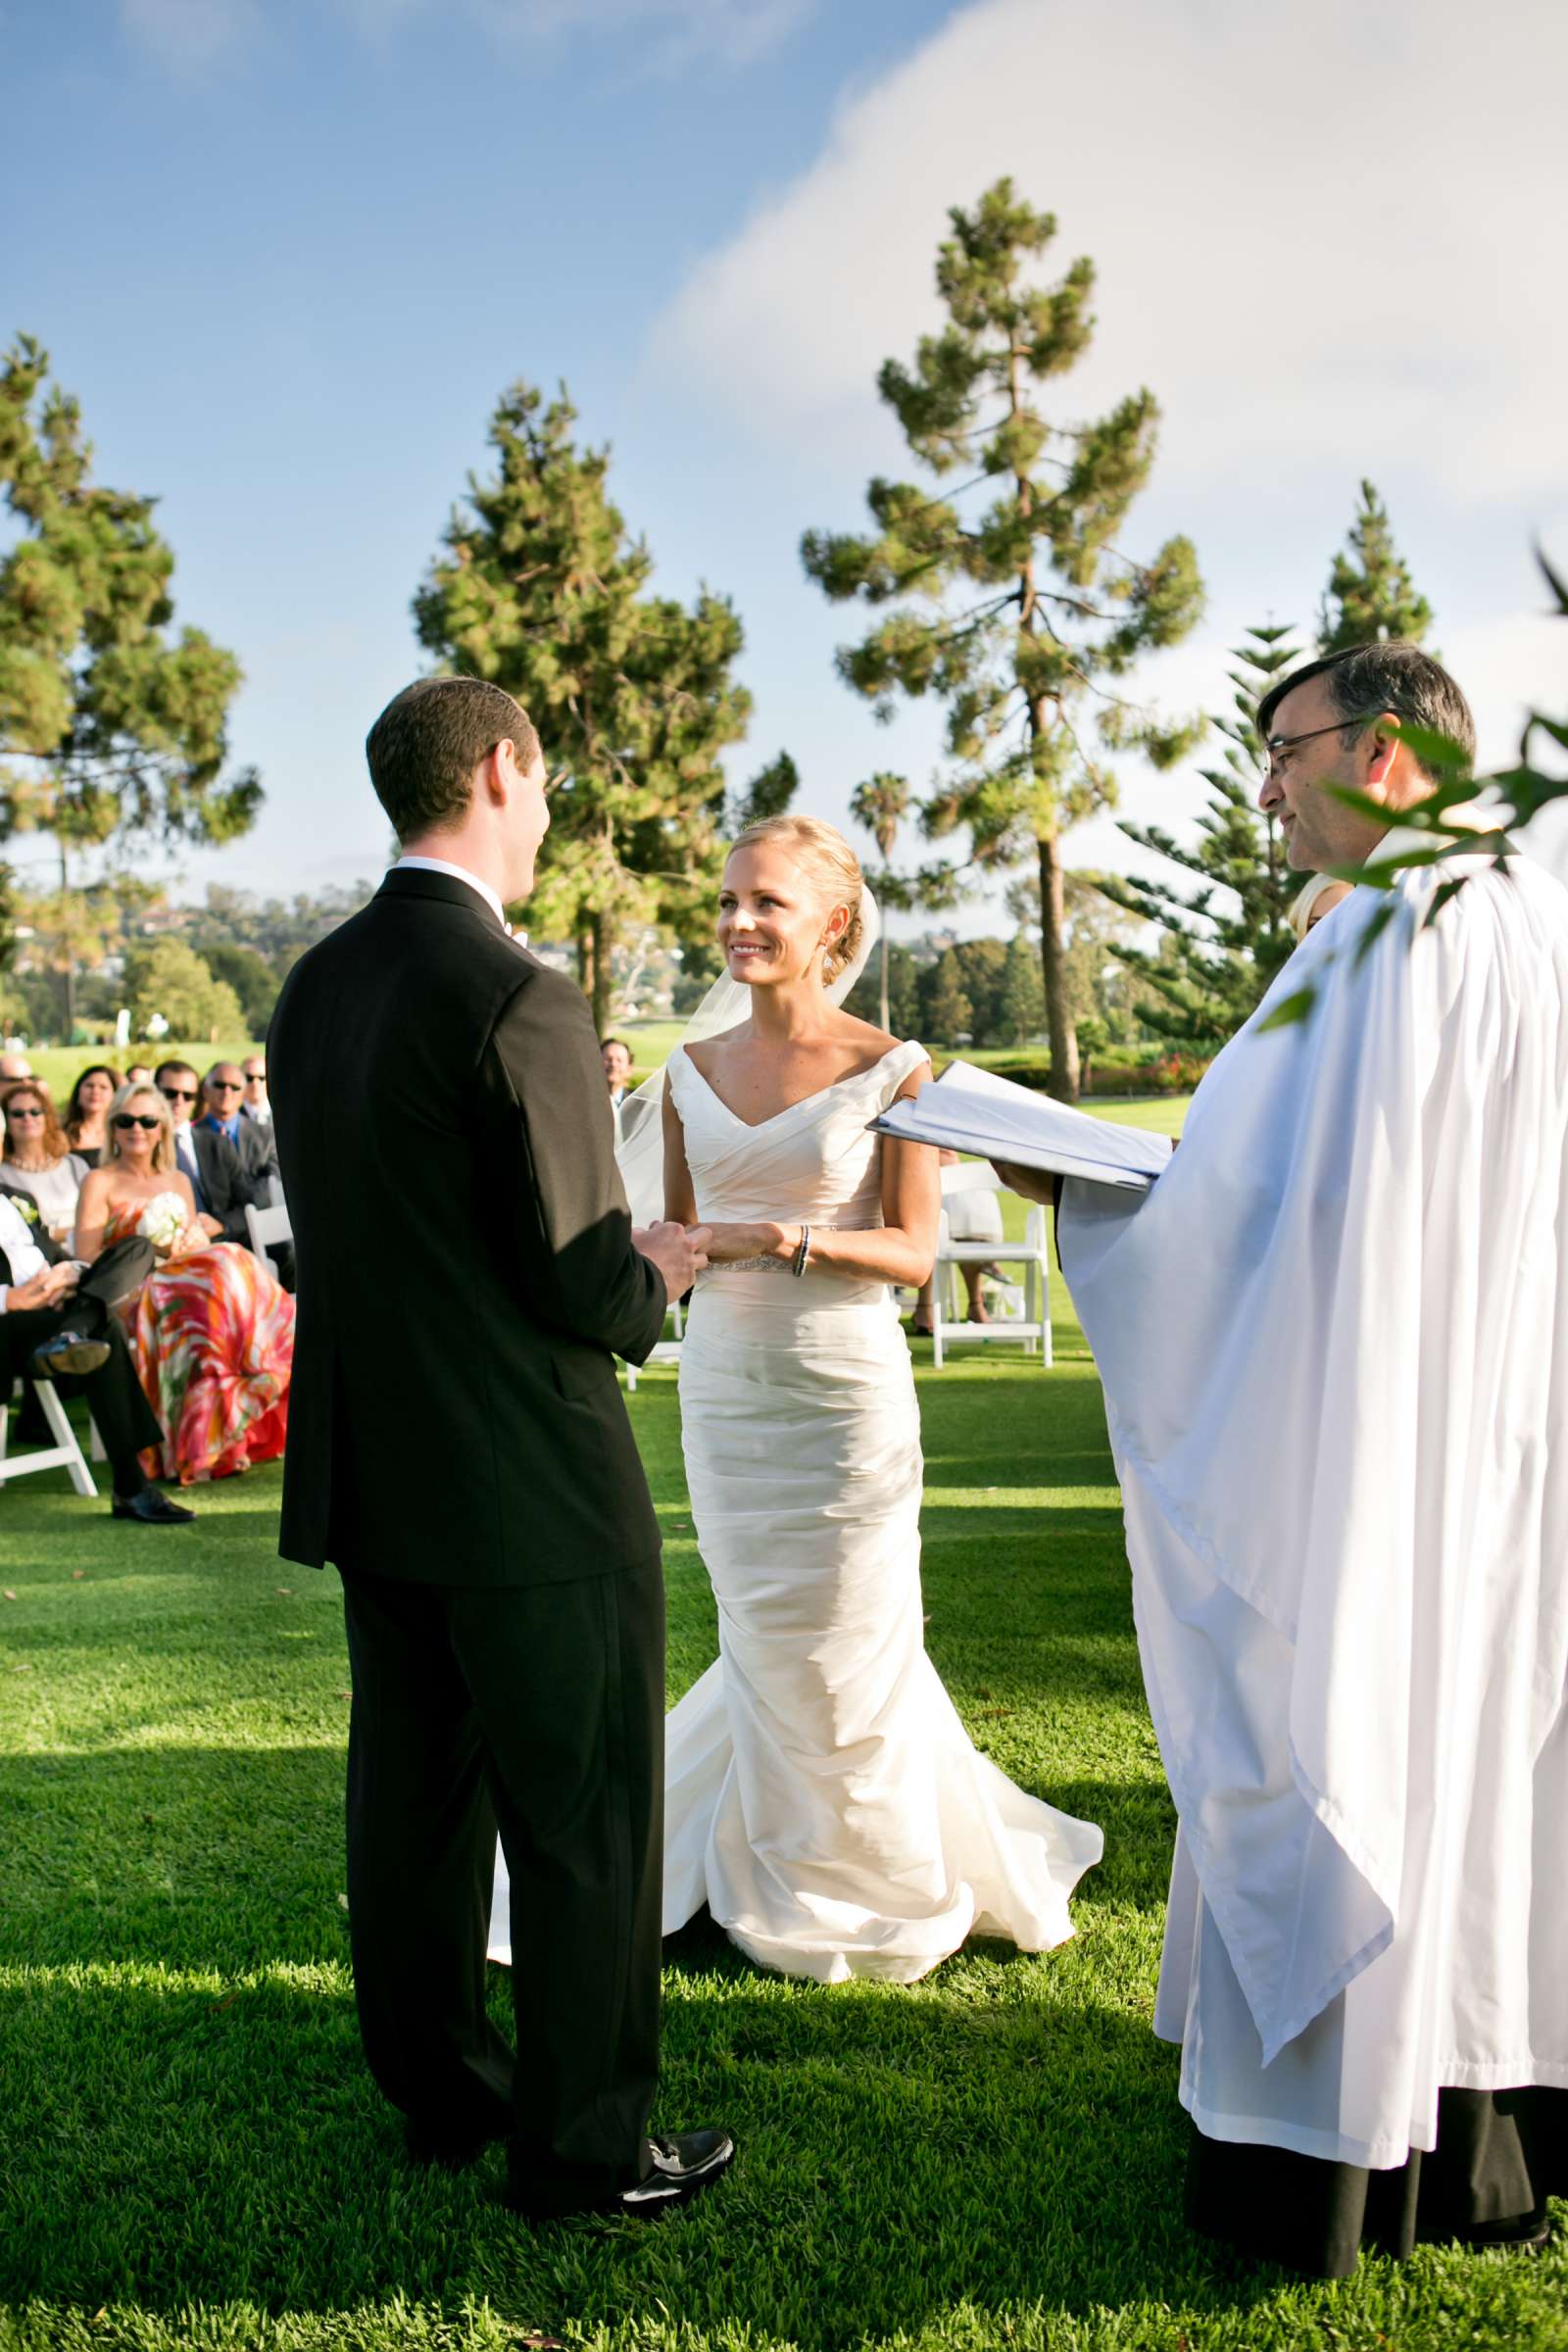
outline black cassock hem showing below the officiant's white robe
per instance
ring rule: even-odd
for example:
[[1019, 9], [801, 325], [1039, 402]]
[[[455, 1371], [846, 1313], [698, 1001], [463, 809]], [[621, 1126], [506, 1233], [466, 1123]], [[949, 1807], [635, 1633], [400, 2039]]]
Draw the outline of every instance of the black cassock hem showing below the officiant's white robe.
[[1389, 2171], [1211, 2140], [1197, 2124], [1187, 2154], [1187, 2225], [1309, 2279], [1347, 2279], [1361, 2251], [1528, 2241], [1547, 2197], [1566, 2194], [1568, 2091], [1439, 2091], [1436, 2147]]

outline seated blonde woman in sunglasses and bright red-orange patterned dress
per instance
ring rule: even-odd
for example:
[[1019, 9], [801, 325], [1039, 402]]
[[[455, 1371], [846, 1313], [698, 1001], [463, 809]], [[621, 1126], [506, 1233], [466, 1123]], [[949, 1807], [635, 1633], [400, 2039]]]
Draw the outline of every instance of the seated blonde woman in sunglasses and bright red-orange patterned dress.
[[129, 1235], [158, 1254], [132, 1310], [132, 1357], [160, 1423], [158, 1477], [188, 1486], [275, 1461], [289, 1432], [294, 1301], [249, 1249], [214, 1237], [155, 1087], [122, 1087], [108, 1124], [75, 1254], [92, 1265]]

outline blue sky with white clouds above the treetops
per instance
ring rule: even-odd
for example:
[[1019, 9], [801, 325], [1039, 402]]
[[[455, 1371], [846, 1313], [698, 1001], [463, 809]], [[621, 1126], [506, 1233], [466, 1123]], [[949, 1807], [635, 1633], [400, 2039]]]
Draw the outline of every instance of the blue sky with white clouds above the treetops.
[[[0, 0], [0, 327], [162, 496], [179, 616], [247, 670], [268, 807], [186, 887], [378, 870], [360, 743], [520, 374], [614, 445], [661, 583], [736, 597], [736, 774], [788, 746], [827, 816], [872, 767], [924, 786], [933, 724], [839, 687], [797, 541], [896, 461], [875, 367], [1001, 169], [1100, 263], [1070, 407], [1166, 405], [1128, 539], [1192, 532], [1211, 616], [1147, 689], [1213, 703], [1239, 626], [1309, 619], [1371, 470], [1507, 755], [1568, 673], [1528, 562], [1568, 557], [1568, 12], [1502, 16], [1476, 52], [1460, 0], [1321, 0], [1314, 52], [1241, 0]], [[1126, 779], [1175, 823], [1199, 790]], [[1128, 861], [1105, 821], [1074, 856]]]

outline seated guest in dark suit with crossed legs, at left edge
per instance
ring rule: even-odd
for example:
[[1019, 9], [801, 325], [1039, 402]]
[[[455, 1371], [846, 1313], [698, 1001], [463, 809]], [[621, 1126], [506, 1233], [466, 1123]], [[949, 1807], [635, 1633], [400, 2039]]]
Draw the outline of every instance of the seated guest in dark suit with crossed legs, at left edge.
[[[87, 1397], [113, 1479], [113, 1517], [143, 1526], [186, 1526], [195, 1512], [169, 1503], [141, 1472], [141, 1449], [160, 1428], [141, 1395], [120, 1322], [110, 1312], [127, 1279], [127, 1263], [150, 1251], [118, 1251], [87, 1275], [59, 1263], [59, 1249], [31, 1228], [16, 1197], [0, 1192], [0, 1383], [49, 1381], [61, 1397]], [[42, 1418], [42, 1416], [40, 1416]]]

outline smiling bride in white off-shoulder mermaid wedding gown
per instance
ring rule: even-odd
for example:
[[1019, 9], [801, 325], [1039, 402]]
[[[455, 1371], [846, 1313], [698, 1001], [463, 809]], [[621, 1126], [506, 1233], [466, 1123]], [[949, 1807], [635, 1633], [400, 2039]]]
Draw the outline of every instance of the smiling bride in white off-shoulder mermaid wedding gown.
[[[832, 826], [748, 828], [719, 946], [750, 1011], [665, 1073], [663, 1209], [712, 1230], [679, 1402], [719, 1656], [665, 1724], [663, 1924], [708, 1903], [766, 1969], [912, 1983], [971, 1933], [1063, 1943], [1103, 1839], [976, 1752], [924, 1651], [889, 1284], [929, 1275], [940, 1181], [933, 1150], [867, 1131], [929, 1077], [924, 1049], [827, 995], [860, 903]], [[510, 1957], [503, 1879], [491, 1955]]]

